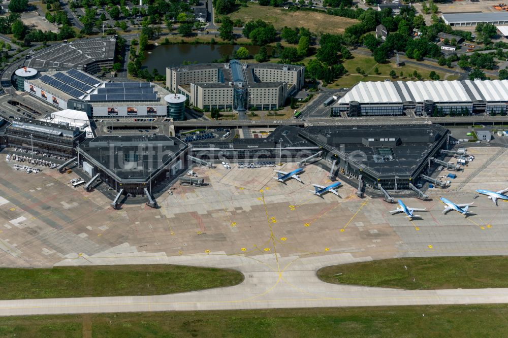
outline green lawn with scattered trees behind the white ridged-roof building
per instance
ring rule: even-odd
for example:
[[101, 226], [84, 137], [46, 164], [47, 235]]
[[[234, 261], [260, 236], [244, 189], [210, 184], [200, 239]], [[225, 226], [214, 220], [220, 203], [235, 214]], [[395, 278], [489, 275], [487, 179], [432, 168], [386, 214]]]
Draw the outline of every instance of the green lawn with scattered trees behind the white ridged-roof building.
[[[412, 76], [412, 74], [417, 71], [424, 80], [429, 79], [429, 75], [431, 70], [426, 69], [424, 67], [418, 67], [412, 64], [407, 64], [403, 66], [396, 67], [395, 62], [389, 63], [377, 63], [372, 56], [366, 56], [362, 54], [357, 54], [354, 51], [352, 52], [353, 58], [345, 60], [342, 64], [345, 69], [348, 71], [348, 74], [339, 78], [337, 81], [331, 83], [328, 88], [334, 87], [352, 87], [358, 82], [367, 82], [367, 81], [385, 81], [385, 79], [390, 79], [392, 81], [411, 81], [417, 80]], [[361, 70], [365, 72], [363, 76], [356, 71], [356, 68], [360, 67]], [[377, 67], [378, 74], [374, 73], [374, 69]], [[396, 79], [392, 79], [390, 77], [390, 71], [394, 70], [397, 74]], [[400, 77], [400, 72], [403, 73], [402, 77]], [[457, 80], [458, 76], [453, 75], [453, 71], [450, 72], [436, 72], [441, 80]]]

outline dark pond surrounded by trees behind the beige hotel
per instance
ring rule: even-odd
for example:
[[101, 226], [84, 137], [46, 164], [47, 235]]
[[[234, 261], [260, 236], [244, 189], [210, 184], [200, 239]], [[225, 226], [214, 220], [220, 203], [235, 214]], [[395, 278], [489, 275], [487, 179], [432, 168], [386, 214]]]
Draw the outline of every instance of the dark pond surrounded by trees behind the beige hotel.
[[[166, 74], [166, 67], [182, 64], [184, 61], [192, 63], [206, 63], [220, 59], [228, 55], [232, 56], [233, 52], [238, 50], [241, 45], [206, 45], [206, 44], [178, 44], [178, 45], [161, 45], [152, 50], [145, 52], [145, 60], [142, 66], [147, 67], [150, 71], [157, 69], [159, 74]], [[250, 55], [256, 54], [260, 46], [244, 46]], [[268, 48], [268, 53], [271, 48]]]

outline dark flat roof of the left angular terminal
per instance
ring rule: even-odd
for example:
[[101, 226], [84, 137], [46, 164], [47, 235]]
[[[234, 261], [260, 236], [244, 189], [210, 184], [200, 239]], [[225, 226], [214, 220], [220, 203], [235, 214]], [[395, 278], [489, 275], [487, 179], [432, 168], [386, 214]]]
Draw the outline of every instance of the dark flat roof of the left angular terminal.
[[92, 157], [104, 170], [122, 180], [146, 179], [186, 148], [186, 144], [174, 137], [151, 136], [100, 136], [86, 139], [79, 145], [80, 151]]

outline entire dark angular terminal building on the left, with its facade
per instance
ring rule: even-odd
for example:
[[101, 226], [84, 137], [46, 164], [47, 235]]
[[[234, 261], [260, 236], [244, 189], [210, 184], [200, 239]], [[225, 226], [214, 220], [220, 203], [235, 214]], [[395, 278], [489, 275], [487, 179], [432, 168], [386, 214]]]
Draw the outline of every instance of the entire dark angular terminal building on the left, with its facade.
[[163, 135], [102, 136], [86, 139], [77, 151], [83, 171], [123, 194], [160, 191], [185, 167], [187, 145]]

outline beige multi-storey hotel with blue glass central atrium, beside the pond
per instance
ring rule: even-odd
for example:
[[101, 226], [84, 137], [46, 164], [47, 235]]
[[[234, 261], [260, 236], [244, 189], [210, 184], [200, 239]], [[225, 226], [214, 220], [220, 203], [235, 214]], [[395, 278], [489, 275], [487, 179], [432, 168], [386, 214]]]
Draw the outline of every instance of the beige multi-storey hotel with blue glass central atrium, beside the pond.
[[300, 90], [305, 67], [277, 63], [202, 63], [167, 67], [166, 86], [210, 111], [272, 110]]

